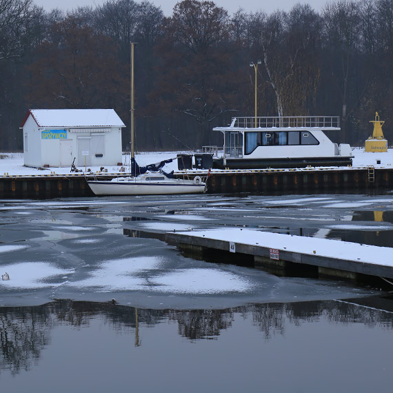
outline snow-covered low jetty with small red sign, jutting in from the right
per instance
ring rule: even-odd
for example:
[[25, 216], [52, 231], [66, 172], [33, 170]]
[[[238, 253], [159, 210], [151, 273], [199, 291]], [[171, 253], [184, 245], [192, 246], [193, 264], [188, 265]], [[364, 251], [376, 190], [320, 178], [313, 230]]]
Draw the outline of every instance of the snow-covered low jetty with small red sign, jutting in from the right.
[[392, 249], [386, 247], [237, 228], [168, 233], [167, 241], [185, 252], [203, 256], [213, 252], [222, 262], [253, 261], [256, 267], [283, 273], [297, 270], [356, 281], [393, 279]]

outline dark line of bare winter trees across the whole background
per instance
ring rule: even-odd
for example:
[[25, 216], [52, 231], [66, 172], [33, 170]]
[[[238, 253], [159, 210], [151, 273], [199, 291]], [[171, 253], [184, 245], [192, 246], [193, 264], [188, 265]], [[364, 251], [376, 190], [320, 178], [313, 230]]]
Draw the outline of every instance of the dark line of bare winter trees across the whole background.
[[222, 145], [212, 127], [254, 116], [255, 74], [259, 116], [339, 116], [332, 139], [363, 145], [378, 111], [393, 138], [393, 0], [232, 15], [183, 0], [170, 17], [147, 0], [71, 12], [0, 0], [0, 149], [23, 148], [30, 108], [114, 108], [128, 149], [130, 42], [137, 150]]

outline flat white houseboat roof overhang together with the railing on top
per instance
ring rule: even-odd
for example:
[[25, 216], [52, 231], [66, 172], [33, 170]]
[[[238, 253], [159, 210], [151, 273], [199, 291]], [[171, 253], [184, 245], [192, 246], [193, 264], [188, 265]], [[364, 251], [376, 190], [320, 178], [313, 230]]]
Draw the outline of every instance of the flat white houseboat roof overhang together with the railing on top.
[[214, 131], [290, 131], [290, 130], [341, 130], [340, 118], [334, 116], [276, 116], [233, 117], [228, 127], [215, 127]]

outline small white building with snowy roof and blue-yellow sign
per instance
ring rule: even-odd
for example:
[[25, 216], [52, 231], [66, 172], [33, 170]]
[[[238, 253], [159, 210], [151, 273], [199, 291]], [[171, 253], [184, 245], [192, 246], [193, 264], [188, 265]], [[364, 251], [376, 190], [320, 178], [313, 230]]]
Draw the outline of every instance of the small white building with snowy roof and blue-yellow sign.
[[121, 164], [121, 128], [113, 109], [34, 109], [21, 125], [26, 166]]

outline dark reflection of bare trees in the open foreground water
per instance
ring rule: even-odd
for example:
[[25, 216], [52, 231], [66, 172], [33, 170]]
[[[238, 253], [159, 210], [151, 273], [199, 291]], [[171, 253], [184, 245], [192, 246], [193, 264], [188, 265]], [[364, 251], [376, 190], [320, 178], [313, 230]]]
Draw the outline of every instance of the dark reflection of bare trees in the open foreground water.
[[[355, 303], [356, 302], [356, 303]], [[151, 310], [112, 303], [55, 301], [37, 307], [0, 309], [0, 372], [18, 374], [39, 362], [43, 349], [61, 325], [77, 330], [94, 330], [94, 321], [105, 329], [134, 336], [134, 346], [143, 347], [145, 328], [165, 322], [177, 324], [177, 333], [191, 341], [219, 340], [232, 328], [236, 317], [254, 326], [264, 339], [285, 336], [289, 325], [302, 323], [363, 324], [368, 328], [393, 329], [393, 298], [372, 297], [356, 301], [310, 301], [299, 303], [251, 304], [224, 310]], [[143, 327], [143, 330], [141, 328]], [[100, 330], [102, 330], [100, 328]], [[157, 334], [159, 334], [157, 332]], [[239, 333], [239, 340], [245, 337]], [[168, 350], [170, 341], [168, 341]]]

